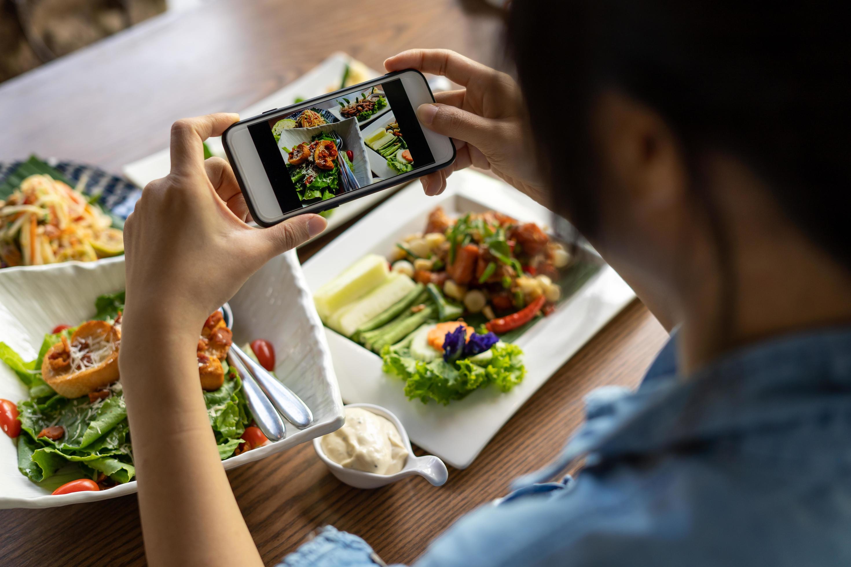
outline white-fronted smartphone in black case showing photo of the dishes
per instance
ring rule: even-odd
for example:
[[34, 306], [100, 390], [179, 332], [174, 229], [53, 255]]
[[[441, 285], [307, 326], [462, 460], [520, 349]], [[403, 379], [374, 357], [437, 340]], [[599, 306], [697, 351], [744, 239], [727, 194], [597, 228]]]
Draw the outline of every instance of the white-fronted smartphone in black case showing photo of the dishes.
[[447, 167], [452, 140], [415, 113], [430, 102], [411, 69], [233, 124], [222, 143], [254, 221], [321, 213]]

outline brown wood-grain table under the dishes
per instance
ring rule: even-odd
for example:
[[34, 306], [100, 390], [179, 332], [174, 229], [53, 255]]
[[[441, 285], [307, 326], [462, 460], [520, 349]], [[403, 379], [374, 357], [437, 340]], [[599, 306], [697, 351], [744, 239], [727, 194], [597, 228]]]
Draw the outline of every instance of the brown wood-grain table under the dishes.
[[[235, 0], [166, 14], [0, 85], [0, 160], [36, 152], [119, 171], [168, 145], [175, 119], [241, 109], [336, 50], [376, 69], [412, 47], [454, 48], [488, 65], [502, 60], [500, 14], [482, 3], [431, 0], [374, 10], [374, 3], [353, 0], [350, 9], [323, 10], [315, 24], [301, 4], [315, 5]], [[330, 237], [306, 247], [303, 259]], [[352, 489], [328, 473], [310, 444], [228, 476], [266, 564], [323, 524], [365, 537], [388, 563], [409, 563], [461, 514], [502, 496], [512, 478], [554, 456], [581, 422], [583, 394], [637, 384], [664, 340], [647, 309], [632, 303], [523, 405], [470, 468], [450, 469], [441, 488], [410, 479]], [[0, 512], [0, 564], [144, 563], [135, 496]]]

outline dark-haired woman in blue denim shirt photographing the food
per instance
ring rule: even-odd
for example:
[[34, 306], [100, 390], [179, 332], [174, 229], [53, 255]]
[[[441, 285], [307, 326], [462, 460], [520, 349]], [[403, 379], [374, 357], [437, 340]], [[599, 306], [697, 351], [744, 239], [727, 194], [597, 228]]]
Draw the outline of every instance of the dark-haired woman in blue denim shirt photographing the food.
[[[521, 88], [451, 52], [386, 61], [459, 83], [418, 111], [458, 140], [454, 168], [489, 167], [569, 218], [677, 328], [642, 387], [591, 408], [520, 485], [585, 457], [574, 483], [471, 513], [418, 565], [851, 564], [851, 247], [832, 198], [851, 180], [840, 11], [523, 0], [510, 34]], [[151, 564], [260, 564], [208, 427], [195, 339], [266, 259], [324, 226], [243, 224], [230, 168], [201, 148], [235, 120], [175, 124], [172, 173], [125, 232], [120, 365]], [[446, 175], [423, 179], [426, 193]], [[376, 561], [326, 529], [285, 564]]]

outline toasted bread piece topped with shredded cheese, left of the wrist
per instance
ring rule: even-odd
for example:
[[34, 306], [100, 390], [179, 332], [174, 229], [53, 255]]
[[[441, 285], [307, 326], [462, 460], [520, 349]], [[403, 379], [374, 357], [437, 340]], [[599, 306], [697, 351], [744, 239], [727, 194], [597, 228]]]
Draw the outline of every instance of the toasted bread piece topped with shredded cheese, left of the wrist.
[[121, 332], [106, 321], [86, 321], [44, 354], [42, 377], [57, 394], [79, 398], [118, 379]]

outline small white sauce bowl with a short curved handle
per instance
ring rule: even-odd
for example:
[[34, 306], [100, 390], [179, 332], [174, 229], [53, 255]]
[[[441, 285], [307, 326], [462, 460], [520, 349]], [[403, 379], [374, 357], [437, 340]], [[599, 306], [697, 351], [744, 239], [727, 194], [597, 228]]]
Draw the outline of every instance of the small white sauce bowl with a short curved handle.
[[355, 488], [378, 488], [379, 486], [389, 485], [391, 482], [405, 479], [409, 476], [420, 475], [428, 480], [432, 485], [442, 486], [446, 479], [449, 478], [449, 472], [446, 470], [446, 465], [443, 464], [437, 456], [415, 456], [411, 449], [411, 440], [408, 439], [408, 432], [399, 418], [394, 416], [391, 411], [388, 411], [380, 405], [373, 404], [347, 404], [345, 407], [362, 407], [364, 410], [372, 411], [374, 414], [386, 417], [399, 430], [399, 436], [402, 437], [402, 444], [408, 449], [408, 460], [401, 471], [394, 474], [376, 474], [365, 473], [363, 471], [354, 470], [352, 468], [343, 467], [332, 461], [325, 455], [322, 449], [322, 439], [313, 439], [313, 448], [316, 449], [317, 455], [328, 466], [328, 469], [335, 477], [340, 479], [346, 485], [354, 486]]

